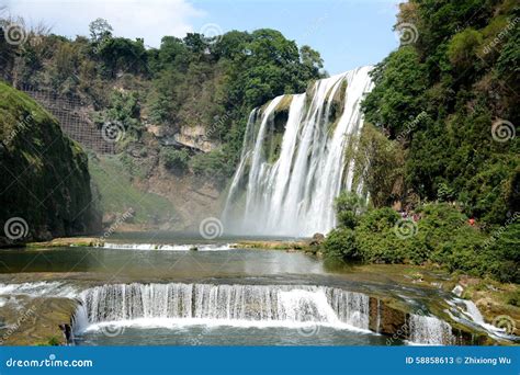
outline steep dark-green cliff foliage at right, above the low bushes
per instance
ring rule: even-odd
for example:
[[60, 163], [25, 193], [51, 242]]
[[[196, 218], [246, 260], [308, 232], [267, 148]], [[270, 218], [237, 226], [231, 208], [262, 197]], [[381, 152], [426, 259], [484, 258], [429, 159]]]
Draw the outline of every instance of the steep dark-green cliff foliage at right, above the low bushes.
[[393, 151], [373, 152], [374, 204], [457, 202], [488, 227], [504, 224], [520, 211], [518, 3], [411, 0], [396, 29], [407, 43], [375, 67], [363, 103]]

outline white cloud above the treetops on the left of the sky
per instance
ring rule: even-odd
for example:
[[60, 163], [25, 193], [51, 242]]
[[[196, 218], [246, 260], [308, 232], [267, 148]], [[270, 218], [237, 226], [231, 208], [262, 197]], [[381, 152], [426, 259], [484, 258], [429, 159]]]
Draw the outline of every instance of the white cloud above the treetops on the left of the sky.
[[186, 0], [0, 0], [0, 5], [29, 24], [43, 22], [53, 33], [69, 37], [87, 36], [89, 23], [102, 18], [115, 36], [144, 37], [154, 47], [165, 35], [193, 32], [192, 21], [205, 15]]

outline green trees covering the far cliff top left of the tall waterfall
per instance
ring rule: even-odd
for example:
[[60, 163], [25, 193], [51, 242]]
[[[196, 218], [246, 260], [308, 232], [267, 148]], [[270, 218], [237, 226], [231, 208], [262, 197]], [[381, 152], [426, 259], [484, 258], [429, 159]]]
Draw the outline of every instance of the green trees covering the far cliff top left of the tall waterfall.
[[[14, 48], [0, 37], [0, 68], [15, 86], [80, 99], [95, 110], [91, 117], [100, 127], [124, 126], [121, 152], [143, 141], [147, 125], [168, 135], [203, 126], [217, 149], [208, 155], [179, 149], [165, 152], [163, 160], [172, 172], [192, 170], [221, 185], [238, 162], [249, 112], [275, 95], [303, 92], [323, 76], [316, 50], [298, 49], [274, 30], [231, 31], [213, 39], [165, 36], [159, 48], [149, 49], [143, 39], [112, 33], [99, 19], [90, 24], [89, 37], [74, 41], [29, 33], [27, 43]], [[154, 152], [160, 148], [157, 143], [146, 147]]]

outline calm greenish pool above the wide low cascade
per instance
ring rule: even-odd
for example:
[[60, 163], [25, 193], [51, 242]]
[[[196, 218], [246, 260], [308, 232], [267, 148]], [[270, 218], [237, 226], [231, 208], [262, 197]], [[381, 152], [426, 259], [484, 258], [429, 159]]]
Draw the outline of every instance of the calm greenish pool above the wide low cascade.
[[2, 250], [2, 273], [90, 272], [108, 277], [196, 279], [326, 274], [323, 263], [302, 253], [275, 250], [121, 250], [101, 248], [54, 248], [50, 250]]

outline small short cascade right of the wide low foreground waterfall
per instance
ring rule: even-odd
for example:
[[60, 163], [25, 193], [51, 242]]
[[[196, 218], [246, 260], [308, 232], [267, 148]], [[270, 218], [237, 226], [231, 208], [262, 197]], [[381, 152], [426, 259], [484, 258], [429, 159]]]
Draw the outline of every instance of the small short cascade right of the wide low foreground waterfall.
[[453, 343], [451, 326], [436, 317], [410, 315], [409, 341], [427, 345], [445, 345]]

